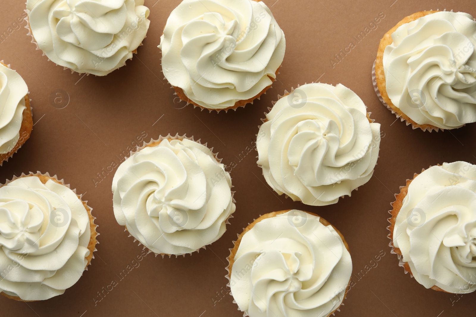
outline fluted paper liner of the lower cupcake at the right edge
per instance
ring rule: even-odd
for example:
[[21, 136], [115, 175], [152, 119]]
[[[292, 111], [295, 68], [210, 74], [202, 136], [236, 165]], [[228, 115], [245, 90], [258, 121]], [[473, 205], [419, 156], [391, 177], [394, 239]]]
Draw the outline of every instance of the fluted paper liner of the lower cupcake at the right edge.
[[[438, 164], [438, 166], [439, 166], [439, 164]], [[421, 173], [423, 173], [424, 171], [425, 171], [425, 169], [422, 169]], [[387, 221], [390, 223], [390, 225], [387, 227], [387, 230], [390, 231], [387, 235], [387, 238], [390, 239], [390, 243], [388, 244], [388, 246], [391, 248], [390, 253], [397, 254], [398, 266], [400, 266], [404, 269], [405, 274], [410, 273], [410, 277], [412, 277], [412, 278], [413, 278], [413, 274], [410, 270], [410, 267], [409, 267], [408, 263], [403, 260], [402, 252], [400, 251], [400, 249], [395, 248], [395, 246], [393, 245], [393, 231], [394, 231], [394, 228], [395, 228], [395, 222], [397, 220], [397, 215], [400, 212], [400, 208], [402, 207], [403, 199], [407, 196], [408, 186], [410, 185], [410, 183], [413, 180], [415, 180], [415, 178], [418, 175], [419, 174], [414, 173], [413, 174], [413, 179], [411, 179], [411, 180], [407, 179], [406, 185], [405, 186], [400, 186], [400, 188], [399, 188], [400, 192], [398, 194], [395, 194], [395, 202], [390, 203], [390, 206], [392, 206], [392, 209], [389, 210], [388, 213], [391, 215], [391, 217], [387, 219]], [[441, 292], [445, 292], [445, 293], [449, 293], [449, 292], [446, 292], [445, 290], [437, 287], [436, 285], [433, 286], [431, 289], [441, 291]]]

